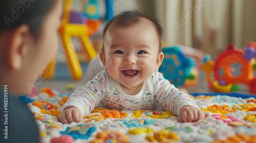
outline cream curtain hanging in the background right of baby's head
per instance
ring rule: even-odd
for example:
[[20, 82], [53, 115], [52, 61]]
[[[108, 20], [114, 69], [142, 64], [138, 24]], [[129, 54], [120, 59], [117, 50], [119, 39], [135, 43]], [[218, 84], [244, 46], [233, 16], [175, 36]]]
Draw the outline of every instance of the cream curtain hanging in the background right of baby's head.
[[256, 41], [255, 0], [155, 0], [164, 41], [183, 44], [216, 57], [233, 43]]

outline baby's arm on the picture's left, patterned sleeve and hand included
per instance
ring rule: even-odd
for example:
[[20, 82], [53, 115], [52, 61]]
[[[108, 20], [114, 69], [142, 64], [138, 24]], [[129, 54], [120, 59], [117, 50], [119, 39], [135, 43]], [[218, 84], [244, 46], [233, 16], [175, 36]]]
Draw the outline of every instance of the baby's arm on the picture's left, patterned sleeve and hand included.
[[85, 115], [90, 114], [108, 92], [110, 80], [107, 77], [106, 72], [102, 71], [86, 85], [76, 89], [62, 106], [62, 112], [58, 116], [59, 121], [80, 122]]

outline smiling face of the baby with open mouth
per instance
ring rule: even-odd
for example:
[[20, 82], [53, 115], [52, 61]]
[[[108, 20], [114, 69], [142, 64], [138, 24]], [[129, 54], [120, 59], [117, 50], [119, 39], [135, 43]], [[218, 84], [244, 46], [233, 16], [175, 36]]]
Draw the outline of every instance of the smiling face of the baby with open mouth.
[[149, 21], [143, 19], [127, 28], [110, 27], [106, 33], [102, 62], [122, 86], [141, 85], [158, 70], [159, 61], [158, 36]]

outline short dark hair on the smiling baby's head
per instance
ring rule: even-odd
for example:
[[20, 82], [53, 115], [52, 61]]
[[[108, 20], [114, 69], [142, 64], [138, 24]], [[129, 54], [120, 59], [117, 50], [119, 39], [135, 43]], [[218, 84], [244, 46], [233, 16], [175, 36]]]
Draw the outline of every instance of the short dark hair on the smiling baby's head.
[[150, 20], [153, 26], [156, 29], [159, 39], [159, 52], [161, 51], [161, 40], [163, 37], [163, 28], [160, 25], [159, 20], [150, 18], [144, 13], [139, 11], [124, 11], [119, 13], [118, 15], [114, 16], [111, 20], [106, 22], [103, 30], [103, 45], [102, 45], [102, 52], [104, 53], [104, 39], [106, 37], [106, 32], [108, 32], [109, 27], [113, 24], [116, 28], [118, 27], [129, 27], [133, 26], [141, 21], [142, 18], [146, 18]]

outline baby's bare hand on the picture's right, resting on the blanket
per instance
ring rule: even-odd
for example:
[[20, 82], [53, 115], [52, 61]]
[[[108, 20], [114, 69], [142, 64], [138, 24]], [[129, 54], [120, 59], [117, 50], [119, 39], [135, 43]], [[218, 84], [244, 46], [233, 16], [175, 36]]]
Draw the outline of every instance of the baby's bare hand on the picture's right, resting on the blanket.
[[196, 122], [205, 118], [204, 112], [192, 106], [184, 106], [180, 109], [178, 121], [179, 122]]

